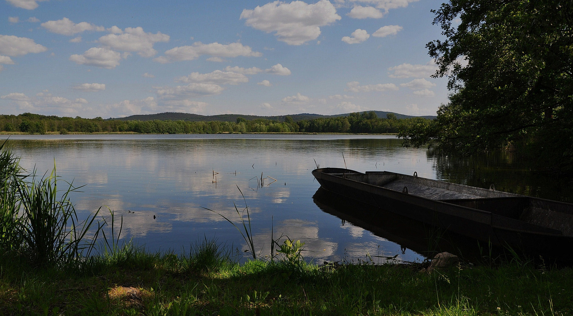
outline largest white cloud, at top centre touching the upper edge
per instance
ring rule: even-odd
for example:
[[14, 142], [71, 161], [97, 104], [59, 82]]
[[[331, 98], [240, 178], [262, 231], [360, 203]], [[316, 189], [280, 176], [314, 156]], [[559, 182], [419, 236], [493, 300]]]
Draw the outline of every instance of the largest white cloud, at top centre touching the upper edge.
[[246, 19], [245, 25], [266, 33], [276, 32], [278, 40], [288, 45], [315, 40], [320, 35], [320, 26], [330, 25], [340, 18], [327, 0], [310, 5], [303, 1], [274, 1], [253, 10], [244, 9], [241, 13], [241, 19]]

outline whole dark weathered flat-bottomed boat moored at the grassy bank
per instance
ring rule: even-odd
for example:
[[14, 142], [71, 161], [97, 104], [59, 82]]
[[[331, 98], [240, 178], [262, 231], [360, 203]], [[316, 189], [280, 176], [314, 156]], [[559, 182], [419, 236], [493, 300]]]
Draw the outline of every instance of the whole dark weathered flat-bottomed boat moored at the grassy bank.
[[[573, 204], [388, 171], [312, 171], [333, 193], [486, 243], [573, 259]], [[569, 249], [569, 250], [568, 250]]]

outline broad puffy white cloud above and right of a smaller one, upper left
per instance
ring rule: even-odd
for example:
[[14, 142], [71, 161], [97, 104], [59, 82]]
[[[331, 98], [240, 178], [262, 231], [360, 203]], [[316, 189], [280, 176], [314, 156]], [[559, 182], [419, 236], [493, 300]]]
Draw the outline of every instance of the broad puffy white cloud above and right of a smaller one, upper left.
[[111, 49], [124, 52], [137, 52], [142, 57], [155, 56], [157, 51], [153, 49], [156, 42], [168, 42], [169, 36], [161, 32], [146, 33], [143, 28], [125, 28], [122, 34], [107, 34], [99, 38], [101, 44]]

